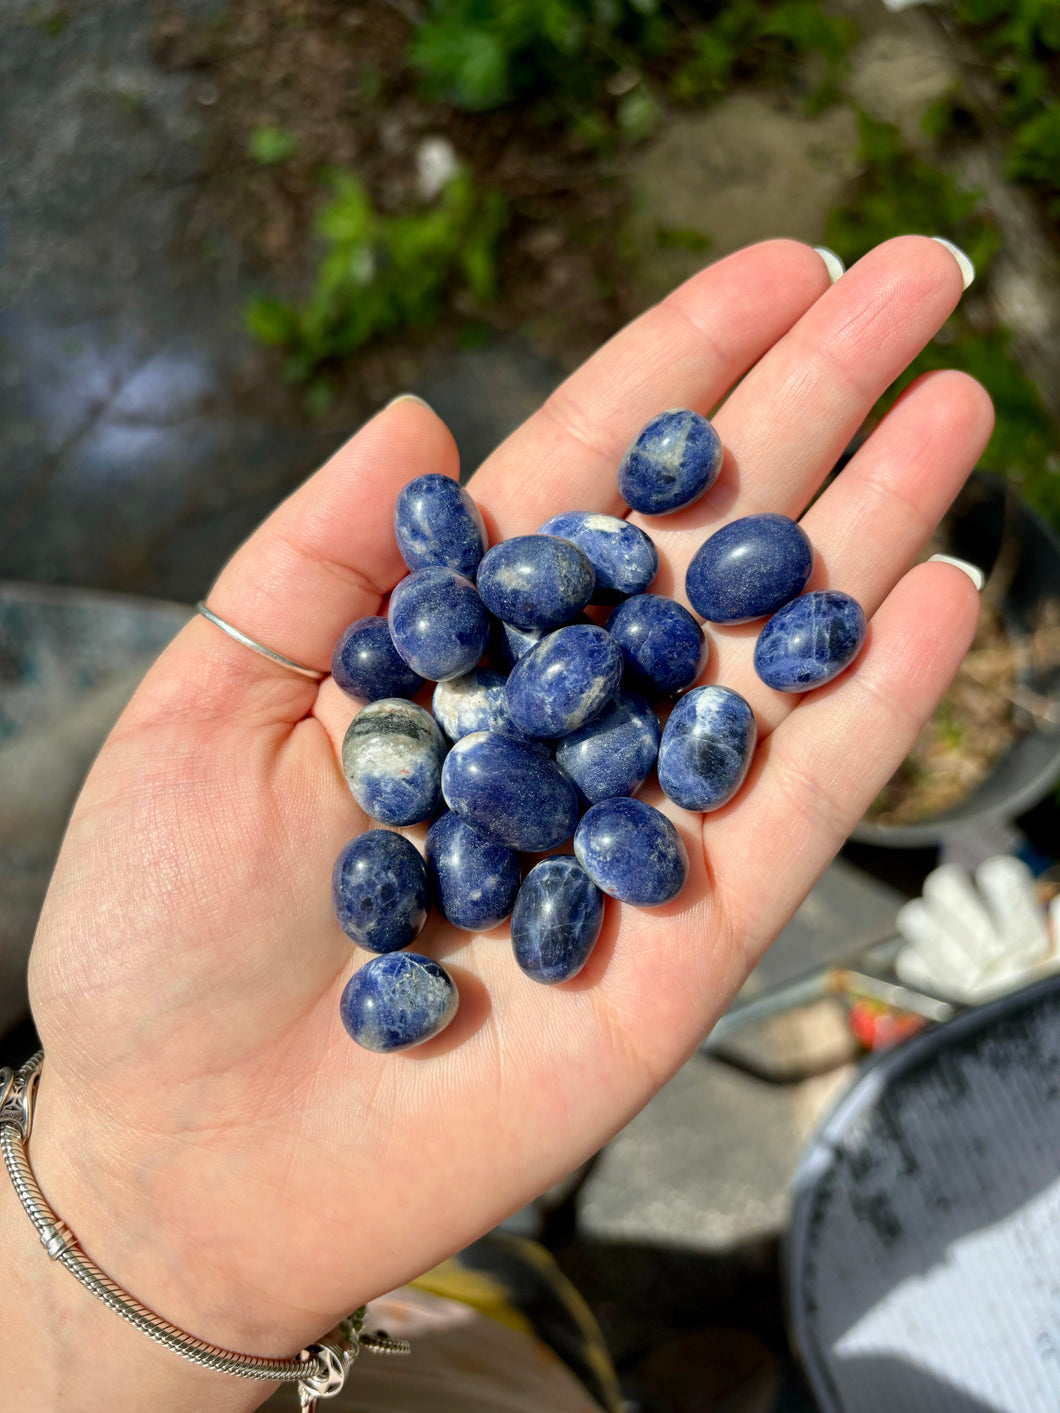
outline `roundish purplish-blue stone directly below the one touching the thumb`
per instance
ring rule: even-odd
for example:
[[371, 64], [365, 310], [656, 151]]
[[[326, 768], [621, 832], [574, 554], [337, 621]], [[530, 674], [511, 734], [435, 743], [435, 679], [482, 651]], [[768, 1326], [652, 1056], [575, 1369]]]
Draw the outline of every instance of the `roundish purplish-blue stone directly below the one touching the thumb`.
[[489, 640], [489, 613], [475, 585], [438, 565], [401, 579], [390, 595], [387, 623], [406, 663], [432, 682], [471, 671]]

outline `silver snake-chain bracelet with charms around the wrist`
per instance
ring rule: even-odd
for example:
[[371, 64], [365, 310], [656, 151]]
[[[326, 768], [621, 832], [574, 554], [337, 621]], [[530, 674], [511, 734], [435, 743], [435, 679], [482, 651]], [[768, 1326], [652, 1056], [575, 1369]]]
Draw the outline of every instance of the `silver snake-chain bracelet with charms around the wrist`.
[[304, 1413], [317, 1407], [317, 1399], [334, 1397], [346, 1382], [346, 1373], [362, 1349], [370, 1354], [408, 1354], [407, 1340], [390, 1340], [384, 1334], [363, 1331], [365, 1307], [342, 1320], [331, 1334], [307, 1345], [295, 1359], [270, 1359], [253, 1354], [219, 1349], [205, 1340], [196, 1340], [154, 1314], [126, 1290], [114, 1284], [78, 1246], [78, 1239], [66, 1224], [45, 1202], [30, 1167], [27, 1143], [33, 1129], [37, 1085], [41, 1078], [44, 1051], [17, 1072], [0, 1070], [0, 1150], [4, 1166], [37, 1228], [41, 1245], [52, 1260], [61, 1262], [92, 1294], [122, 1316], [148, 1338], [216, 1373], [233, 1373], [240, 1379], [269, 1379], [298, 1385], [298, 1402]]

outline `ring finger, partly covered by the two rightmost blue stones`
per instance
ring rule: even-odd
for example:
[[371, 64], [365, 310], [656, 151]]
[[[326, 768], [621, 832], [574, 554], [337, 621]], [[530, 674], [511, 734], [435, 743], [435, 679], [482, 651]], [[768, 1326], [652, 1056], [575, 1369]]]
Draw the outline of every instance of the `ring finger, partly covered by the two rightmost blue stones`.
[[[916, 562], [989, 441], [994, 408], [964, 373], [931, 373], [881, 422], [801, 520], [814, 545], [810, 588], [851, 593], [872, 616]], [[708, 625], [705, 680], [748, 698], [762, 735], [799, 697], [775, 692], [753, 666], [762, 620]]]

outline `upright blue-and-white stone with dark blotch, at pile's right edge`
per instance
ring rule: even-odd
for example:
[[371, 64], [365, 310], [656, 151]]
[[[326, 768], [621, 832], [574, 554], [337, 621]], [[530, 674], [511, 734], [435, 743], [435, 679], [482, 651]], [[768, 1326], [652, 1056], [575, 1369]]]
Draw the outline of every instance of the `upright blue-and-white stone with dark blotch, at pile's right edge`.
[[728, 687], [697, 687], [670, 712], [659, 747], [659, 784], [683, 810], [718, 810], [750, 769], [755, 714]]

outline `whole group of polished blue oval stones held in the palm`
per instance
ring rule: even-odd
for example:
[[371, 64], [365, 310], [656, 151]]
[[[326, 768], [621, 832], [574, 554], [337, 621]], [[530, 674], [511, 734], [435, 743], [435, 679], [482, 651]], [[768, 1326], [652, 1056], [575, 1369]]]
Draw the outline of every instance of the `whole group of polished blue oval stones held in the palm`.
[[[633, 510], [664, 516], [708, 492], [721, 462], [704, 417], [666, 411], [626, 451], [618, 485]], [[596, 944], [603, 894], [660, 907], [684, 887], [677, 829], [635, 798], [652, 769], [674, 804], [717, 810], [741, 788], [756, 739], [738, 692], [693, 685], [704, 630], [649, 592], [659, 551], [628, 520], [564, 512], [489, 548], [466, 490], [427, 475], [399, 495], [394, 533], [408, 574], [387, 616], [351, 623], [332, 661], [338, 685], [367, 702], [342, 745], [346, 781], [391, 827], [352, 839], [332, 876], [339, 924], [379, 954], [341, 1003], [349, 1034], [376, 1051], [420, 1044], [457, 1012], [448, 971], [404, 951], [431, 907], [475, 933], [510, 918], [523, 972], [568, 981]], [[803, 592], [813, 562], [793, 520], [756, 514], [712, 534], [688, 567], [688, 602], [708, 623], [767, 619], [755, 668], [777, 691], [831, 681], [865, 639], [849, 595]], [[602, 626], [585, 613], [601, 605]], [[431, 711], [410, 699], [427, 681]], [[425, 821], [424, 859], [393, 829]], [[520, 859], [571, 836], [574, 856]]]

